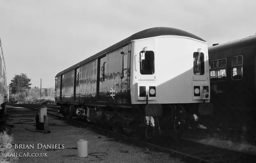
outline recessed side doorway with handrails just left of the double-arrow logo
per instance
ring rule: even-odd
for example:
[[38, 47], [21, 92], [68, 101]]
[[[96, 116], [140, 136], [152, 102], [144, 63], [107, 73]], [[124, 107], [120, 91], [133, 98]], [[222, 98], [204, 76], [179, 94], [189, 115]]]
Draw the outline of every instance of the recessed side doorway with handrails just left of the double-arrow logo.
[[98, 59], [98, 81], [97, 81], [97, 100], [106, 101], [106, 69], [107, 69], [107, 57], [104, 56]]

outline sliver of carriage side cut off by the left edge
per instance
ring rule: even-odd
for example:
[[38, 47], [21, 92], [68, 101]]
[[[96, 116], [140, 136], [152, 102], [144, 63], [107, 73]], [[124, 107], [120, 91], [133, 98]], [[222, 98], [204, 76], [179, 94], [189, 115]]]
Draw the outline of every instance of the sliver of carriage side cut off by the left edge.
[[4, 63], [4, 53], [0, 39], [0, 117], [4, 115], [5, 104], [7, 102], [6, 69]]

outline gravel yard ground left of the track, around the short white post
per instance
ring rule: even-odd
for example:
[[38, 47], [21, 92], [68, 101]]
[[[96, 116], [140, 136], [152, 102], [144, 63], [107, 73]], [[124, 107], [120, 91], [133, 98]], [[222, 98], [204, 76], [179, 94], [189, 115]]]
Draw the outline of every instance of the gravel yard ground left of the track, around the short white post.
[[[35, 111], [29, 111], [30, 109], [19, 109], [19, 113], [15, 111], [15, 107], [10, 107], [7, 112], [12, 114], [9, 116], [7, 123], [13, 124], [19, 122], [20, 119], [33, 119], [35, 123], [35, 115], [31, 113]], [[22, 111], [22, 112], [21, 112]], [[14, 115], [15, 114], [15, 115]], [[21, 115], [25, 114], [25, 115]], [[25, 121], [25, 120], [20, 120]], [[29, 130], [25, 130], [21, 124], [14, 124], [12, 133], [14, 134], [14, 140], [16, 144], [28, 144], [33, 145], [34, 149], [15, 149], [17, 153], [47, 153], [48, 157], [20, 157], [19, 162], [34, 163], [34, 162], [171, 162], [180, 163], [182, 161], [176, 158], [169, 157], [167, 153], [150, 152], [145, 153], [144, 148], [136, 147], [135, 145], [125, 144], [122, 141], [116, 141], [111, 138], [96, 134], [90, 129], [79, 128], [68, 125], [63, 120], [55, 119], [50, 117], [48, 119], [50, 125], [49, 130], [51, 133], [43, 134], [39, 132], [31, 132], [29, 130], [36, 130], [36, 126], [33, 124], [23, 124], [23, 126]], [[77, 155], [77, 140], [86, 139], [88, 140], [88, 158], [78, 158]], [[58, 150], [46, 150], [37, 149], [37, 144], [64, 144], [65, 149]], [[40, 146], [41, 147], [41, 146]], [[128, 152], [124, 152], [128, 150]], [[103, 152], [108, 153], [105, 156], [90, 156], [89, 153]]]

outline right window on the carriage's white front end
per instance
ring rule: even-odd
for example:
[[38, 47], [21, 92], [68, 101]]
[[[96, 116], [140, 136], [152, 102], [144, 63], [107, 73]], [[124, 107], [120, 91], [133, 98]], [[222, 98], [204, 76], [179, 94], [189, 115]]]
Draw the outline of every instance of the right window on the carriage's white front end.
[[194, 58], [194, 74], [204, 75], [204, 53], [200, 52], [199, 54], [199, 52], [195, 52], [193, 54], [193, 58]]

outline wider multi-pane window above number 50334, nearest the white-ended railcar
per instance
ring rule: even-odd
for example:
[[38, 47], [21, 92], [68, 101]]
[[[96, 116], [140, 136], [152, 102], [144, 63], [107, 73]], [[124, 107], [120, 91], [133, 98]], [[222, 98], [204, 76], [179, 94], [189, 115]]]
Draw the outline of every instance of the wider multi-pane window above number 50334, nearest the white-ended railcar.
[[210, 61], [210, 81], [225, 81], [227, 70], [227, 59]]

